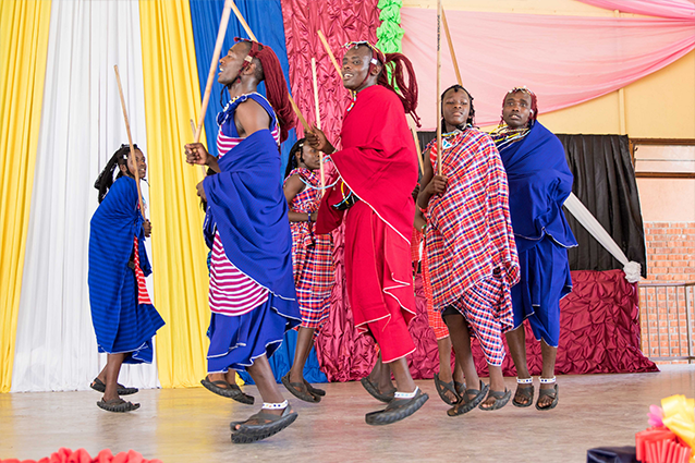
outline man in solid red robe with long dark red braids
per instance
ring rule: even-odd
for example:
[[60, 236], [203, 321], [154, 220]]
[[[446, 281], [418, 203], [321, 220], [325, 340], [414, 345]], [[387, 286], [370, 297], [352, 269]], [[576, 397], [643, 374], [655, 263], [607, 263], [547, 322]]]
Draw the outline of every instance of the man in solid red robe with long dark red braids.
[[375, 338], [398, 389], [387, 407], [368, 413], [366, 422], [387, 425], [412, 415], [428, 399], [405, 358], [415, 350], [407, 325], [415, 316], [410, 241], [411, 193], [417, 184], [405, 113], [417, 118], [417, 83], [403, 54], [383, 54], [367, 41], [346, 47], [342, 77], [353, 103], [343, 118], [343, 149], [336, 151], [316, 127], [306, 134], [314, 148], [331, 155], [342, 181], [324, 196], [316, 232], [328, 233], [345, 221], [345, 275], [355, 326]]

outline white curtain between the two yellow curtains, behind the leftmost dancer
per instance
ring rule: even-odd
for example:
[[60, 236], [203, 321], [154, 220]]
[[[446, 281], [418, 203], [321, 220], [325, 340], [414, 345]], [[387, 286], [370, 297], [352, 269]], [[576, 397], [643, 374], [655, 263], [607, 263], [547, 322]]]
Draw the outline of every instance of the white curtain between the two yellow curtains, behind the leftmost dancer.
[[[94, 181], [127, 143], [113, 64], [133, 139], [148, 155], [138, 16], [136, 1], [52, 4], [12, 391], [87, 389], [106, 364], [92, 326], [86, 244]], [[147, 202], [145, 182], [143, 194]], [[154, 365], [124, 366], [121, 380], [158, 386]]]

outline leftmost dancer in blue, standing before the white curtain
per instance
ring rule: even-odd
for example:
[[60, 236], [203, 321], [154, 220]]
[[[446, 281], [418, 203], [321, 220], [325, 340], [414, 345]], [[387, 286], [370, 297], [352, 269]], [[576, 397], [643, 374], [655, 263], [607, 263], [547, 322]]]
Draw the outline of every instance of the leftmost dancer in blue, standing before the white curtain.
[[109, 412], [139, 407], [120, 398], [137, 392], [118, 383], [121, 364], [151, 363], [153, 337], [164, 325], [145, 285], [145, 277], [151, 273], [145, 252], [151, 224], [139, 210], [133, 172], [137, 168], [144, 179], [147, 165], [136, 145], [134, 154], [129, 145], [121, 145], [94, 184], [99, 207], [89, 232], [89, 305], [99, 352], [108, 357], [90, 387], [103, 392], [97, 405]]

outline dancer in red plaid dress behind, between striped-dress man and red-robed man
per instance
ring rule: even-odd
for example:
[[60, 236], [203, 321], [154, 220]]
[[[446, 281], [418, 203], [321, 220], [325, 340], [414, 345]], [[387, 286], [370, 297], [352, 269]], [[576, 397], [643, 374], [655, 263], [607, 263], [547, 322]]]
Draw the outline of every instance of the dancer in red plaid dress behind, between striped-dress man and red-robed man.
[[284, 180], [284, 197], [290, 206], [294, 284], [302, 312], [294, 364], [282, 378], [288, 390], [306, 402], [320, 402], [326, 394], [304, 379], [304, 364], [314, 345], [314, 333], [328, 318], [333, 273], [333, 237], [316, 233], [316, 215], [321, 203], [318, 151], [305, 138], [290, 150]]

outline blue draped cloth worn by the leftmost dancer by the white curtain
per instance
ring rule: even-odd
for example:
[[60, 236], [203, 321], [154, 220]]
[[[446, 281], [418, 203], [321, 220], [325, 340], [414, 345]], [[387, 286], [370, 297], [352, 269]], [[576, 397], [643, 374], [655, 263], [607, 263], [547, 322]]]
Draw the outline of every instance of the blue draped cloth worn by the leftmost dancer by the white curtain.
[[151, 304], [138, 304], [137, 279], [129, 267], [138, 236], [141, 268], [151, 273], [137, 204], [134, 179], [113, 182], [92, 217], [87, 282], [99, 352], [126, 353], [125, 363], [151, 363], [151, 340], [164, 320]]

